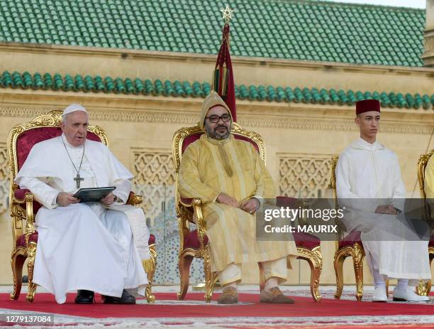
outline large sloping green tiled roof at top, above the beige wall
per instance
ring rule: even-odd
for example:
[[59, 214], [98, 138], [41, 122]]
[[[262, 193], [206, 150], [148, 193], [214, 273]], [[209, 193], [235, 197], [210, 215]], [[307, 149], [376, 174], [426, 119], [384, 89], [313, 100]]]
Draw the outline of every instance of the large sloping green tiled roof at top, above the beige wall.
[[[230, 0], [231, 53], [423, 66], [425, 11], [296, 0]], [[216, 54], [216, 0], [1, 0], [0, 41]]]

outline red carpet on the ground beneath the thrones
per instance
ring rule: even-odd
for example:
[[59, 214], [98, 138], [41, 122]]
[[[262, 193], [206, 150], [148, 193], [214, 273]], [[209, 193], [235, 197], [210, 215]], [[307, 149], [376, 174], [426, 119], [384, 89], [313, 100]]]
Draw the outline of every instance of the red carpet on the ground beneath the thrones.
[[[294, 297], [293, 305], [270, 305], [258, 303], [259, 295], [240, 293], [240, 302], [252, 303], [237, 306], [182, 305], [162, 301], [176, 301], [175, 293], [155, 293], [155, 304], [104, 305], [101, 297], [96, 296], [96, 304], [76, 305], [74, 294], [69, 294], [67, 303], [59, 305], [48, 293], [37, 293], [33, 303], [26, 302], [25, 294], [18, 301], [9, 300], [8, 293], [0, 293], [0, 308], [77, 315], [89, 318], [212, 318], [221, 317], [333, 317], [347, 315], [433, 315], [433, 304], [371, 303], [357, 301], [336, 301], [323, 299], [315, 303], [308, 297]], [[203, 293], [188, 293], [188, 301], [203, 301]], [[218, 293], [213, 296], [216, 300]], [[204, 302], [205, 304], [205, 302]]]

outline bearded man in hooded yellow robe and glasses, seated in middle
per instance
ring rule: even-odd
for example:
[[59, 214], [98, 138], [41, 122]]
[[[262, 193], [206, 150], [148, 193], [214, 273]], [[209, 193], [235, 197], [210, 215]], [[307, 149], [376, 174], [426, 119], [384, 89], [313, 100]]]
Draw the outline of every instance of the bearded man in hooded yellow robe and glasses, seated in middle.
[[261, 302], [294, 303], [278, 287], [297, 254], [294, 241], [256, 239], [255, 212], [266, 199], [276, 198], [265, 164], [252, 144], [230, 134], [232, 115], [216, 92], [204, 100], [199, 122], [206, 134], [184, 151], [179, 191], [204, 204], [211, 271], [223, 286], [218, 303], [238, 303], [241, 264], [246, 262], [262, 266], [266, 281]]

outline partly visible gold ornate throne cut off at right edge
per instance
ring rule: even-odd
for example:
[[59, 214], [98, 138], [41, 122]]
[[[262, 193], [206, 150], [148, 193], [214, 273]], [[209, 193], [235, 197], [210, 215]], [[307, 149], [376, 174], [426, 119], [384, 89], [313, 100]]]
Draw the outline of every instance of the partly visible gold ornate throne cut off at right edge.
[[[431, 221], [431, 207], [430, 203], [428, 202], [426, 198], [425, 193], [425, 168], [428, 164], [428, 161], [430, 160], [431, 156], [433, 156], [434, 150], [431, 150], [430, 153], [422, 154], [419, 157], [418, 160], [418, 181], [419, 181], [419, 190], [421, 192], [421, 199], [423, 203], [423, 215], [425, 217], [425, 220]], [[430, 242], [428, 244], [428, 254], [430, 257], [430, 266], [433, 262], [434, 258], [434, 235], [433, 232], [430, 234]], [[431, 291], [431, 281], [427, 281], [421, 283], [416, 287], [416, 292], [419, 295], [425, 295], [428, 296]]]

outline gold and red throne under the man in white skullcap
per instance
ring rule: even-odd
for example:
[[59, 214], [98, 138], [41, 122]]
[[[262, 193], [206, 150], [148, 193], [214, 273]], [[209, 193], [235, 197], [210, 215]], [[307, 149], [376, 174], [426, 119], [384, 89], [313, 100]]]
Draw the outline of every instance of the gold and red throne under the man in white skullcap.
[[[16, 300], [21, 293], [23, 265], [27, 259], [28, 271], [28, 293], [26, 300], [32, 302], [35, 298], [36, 285], [33, 283], [33, 266], [35, 263], [36, 248], [38, 246], [38, 231], [35, 229], [35, 215], [41, 205], [33, 200], [30, 190], [19, 188], [13, 183], [19, 169], [36, 143], [50, 139], [62, 134], [60, 123], [62, 122], [62, 111], [51, 111], [48, 114], [40, 115], [30, 122], [17, 124], [9, 133], [7, 141], [10, 189], [9, 205], [12, 220], [12, 256], [11, 266], [13, 274], [13, 292], [11, 299]], [[89, 126], [87, 139], [99, 141], [109, 146], [109, 139], [106, 132], [99, 126]], [[142, 196], [130, 193], [127, 204], [138, 205], [142, 202]], [[155, 237], [149, 239], [151, 259], [145, 261], [145, 268], [148, 272], [149, 285], [146, 288], [148, 302], [155, 300], [152, 295], [152, 280], [155, 273], [156, 258]]]

